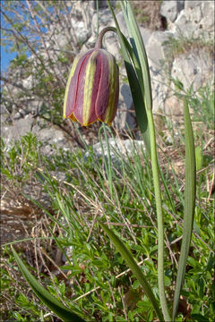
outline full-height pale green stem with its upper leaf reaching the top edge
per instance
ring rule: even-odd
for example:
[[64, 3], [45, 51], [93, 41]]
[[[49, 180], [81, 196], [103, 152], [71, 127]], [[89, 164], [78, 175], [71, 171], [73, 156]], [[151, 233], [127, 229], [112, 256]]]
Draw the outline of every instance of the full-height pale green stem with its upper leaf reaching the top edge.
[[159, 163], [156, 148], [156, 136], [152, 114], [152, 95], [150, 85], [150, 68], [148, 58], [146, 55], [142, 35], [138, 27], [137, 21], [133, 15], [133, 10], [129, 1], [120, 1], [121, 8], [125, 17], [126, 27], [130, 36], [130, 41], [133, 47], [133, 52], [138, 58], [142, 69], [142, 79], [139, 79], [142, 89], [142, 96], [146, 106], [146, 113], [148, 118], [148, 126], [150, 131], [150, 152], [151, 152], [151, 166], [155, 190], [156, 211], [158, 218], [158, 279], [159, 279], [159, 299], [161, 309], [166, 321], [170, 320], [168, 311], [168, 301], [165, 293], [164, 283], [164, 225], [162, 216], [161, 191], [159, 183]]

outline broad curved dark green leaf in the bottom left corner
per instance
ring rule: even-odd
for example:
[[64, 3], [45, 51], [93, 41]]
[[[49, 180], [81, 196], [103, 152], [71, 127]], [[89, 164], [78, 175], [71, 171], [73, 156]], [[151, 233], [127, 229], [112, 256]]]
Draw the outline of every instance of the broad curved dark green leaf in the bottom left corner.
[[17, 252], [13, 249], [13, 256], [20, 267], [22, 275], [26, 281], [30, 284], [31, 289], [39, 297], [39, 299], [47, 305], [47, 308], [51, 309], [57, 317], [61, 318], [64, 322], [84, 322], [82, 318], [73, 313], [70, 309], [67, 309], [60, 301], [47, 292], [47, 290], [39, 284], [36, 278], [30, 274], [28, 268], [22, 262]]

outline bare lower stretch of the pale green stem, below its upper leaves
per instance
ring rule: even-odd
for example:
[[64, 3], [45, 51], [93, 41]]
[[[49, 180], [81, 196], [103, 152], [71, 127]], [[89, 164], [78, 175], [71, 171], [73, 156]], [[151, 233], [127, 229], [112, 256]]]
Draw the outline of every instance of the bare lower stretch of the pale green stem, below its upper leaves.
[[159, 185], [159, 162], [156, 148], [155, 127], [153, 121], [153, 114], [151, 109], [147, 109], [148, 122], [150, 127], [150, 153], [151, 153], [151, 166], [153, 174], [153, 183], [155, 191], [156, 212], [158, 220], [158, 279], [159, 279], [159, 300], [165, 321], [171, 321], [168, 302], [165, 295], [164, 286], [164, 225], [162, 215], [161, 192]]

